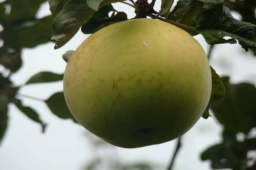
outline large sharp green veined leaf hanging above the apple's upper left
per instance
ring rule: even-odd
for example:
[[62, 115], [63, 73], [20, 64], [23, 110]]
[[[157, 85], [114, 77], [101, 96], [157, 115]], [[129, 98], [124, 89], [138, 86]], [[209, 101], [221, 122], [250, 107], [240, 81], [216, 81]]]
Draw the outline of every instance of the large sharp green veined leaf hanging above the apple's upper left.
[[69, 0], [52, 23], [52, 40], [57, 41], [54, 48], [66, 44], [95, 12], [85, 0]]

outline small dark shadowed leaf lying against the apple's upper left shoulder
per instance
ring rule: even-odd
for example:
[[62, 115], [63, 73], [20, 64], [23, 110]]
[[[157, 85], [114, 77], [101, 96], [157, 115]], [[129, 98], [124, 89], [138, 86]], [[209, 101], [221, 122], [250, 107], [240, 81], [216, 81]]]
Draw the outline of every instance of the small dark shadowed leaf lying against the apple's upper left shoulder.
[[125, 21], [125, 20], [128, 20], [128, 19], [127, 19], [127, 15], [124, 12], [118, 12], [113, 17], [108, 17], [103, 19], [92, 17], [89, 21], [84, 23], [84, 25], [81, 28], [81, 31], [84, 34], [93, 34], [99, 29], [104, 28], [105, 26], [108, 26], [120, 21]]

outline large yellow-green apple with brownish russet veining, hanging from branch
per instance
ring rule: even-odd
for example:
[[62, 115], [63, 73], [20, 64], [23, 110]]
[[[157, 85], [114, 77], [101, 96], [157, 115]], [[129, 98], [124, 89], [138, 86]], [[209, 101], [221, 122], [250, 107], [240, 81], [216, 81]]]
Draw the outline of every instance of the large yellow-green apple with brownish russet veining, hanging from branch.
[[76, 49], [64, 96], [76, 120], [118, 147], [160, 144], [202, 116], [212, 77], [204, 49], [182, 29], [153, 19], [102, 28]]

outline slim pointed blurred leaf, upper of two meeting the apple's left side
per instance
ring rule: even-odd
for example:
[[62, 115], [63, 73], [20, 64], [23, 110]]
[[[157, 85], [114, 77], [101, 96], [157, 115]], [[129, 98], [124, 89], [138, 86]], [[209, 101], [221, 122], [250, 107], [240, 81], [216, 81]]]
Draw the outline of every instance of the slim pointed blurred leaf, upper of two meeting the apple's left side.
[[40, 72], [32, 76], [26, 85], [32, 83], [42, 83], [42, 82], [55, 82], [63, 79], [63, 74], [55, 74], [49, 71]]

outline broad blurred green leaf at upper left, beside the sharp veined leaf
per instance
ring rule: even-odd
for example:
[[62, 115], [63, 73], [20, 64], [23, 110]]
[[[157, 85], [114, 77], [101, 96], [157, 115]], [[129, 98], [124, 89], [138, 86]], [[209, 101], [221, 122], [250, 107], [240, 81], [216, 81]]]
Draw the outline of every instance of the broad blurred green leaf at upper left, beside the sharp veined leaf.
[[4, 45], [12, 48], [33, 48], [49, 42], [52, 34], [52, 20], [52, 16], [47, 16], [12, 23], [12, 27], [4, 28], [2, 36]]

